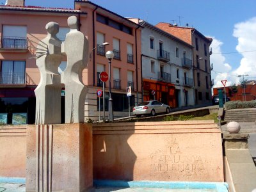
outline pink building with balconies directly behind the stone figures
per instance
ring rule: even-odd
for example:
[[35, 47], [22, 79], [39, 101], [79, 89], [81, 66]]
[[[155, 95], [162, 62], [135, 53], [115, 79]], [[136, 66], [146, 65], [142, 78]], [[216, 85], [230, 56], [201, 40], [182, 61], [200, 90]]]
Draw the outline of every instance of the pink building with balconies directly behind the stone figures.
[[[74, 9], [63, 9], [24, 6], [23, 0], [9, 0], [8, 5], [0, 6], [0, 115], [8, 124], [15, 123], [14, 118], [20, 116], [23, 122], [35, 121], [33, 91], [40, 81], [40, 73], [33, 58], [35, 48], [46, 36], [45, 24], [50, 21], [60, 24], [58, 38], [65, 40], [65, 34], [68, 33], [67, 18], [70, 15], [77, 16], [79, 30], [89, 40], [90, 59], [88, 68], [83, 70], [83, 82], [89, 88], [84, 101], [84, 118], [99, 119], [99, 98], [96, 92], [102, 89], [99, 72], [108, 72], [106, 51], [115, 52], [111, 64], [114, 117], [127, 116], [129, 113], [127, 86], [132, 86], [131, 104], [140, 102], [141, 29], [138, 24], [90, 1], [75, 1]], [[103, 42], [109, 45], [93, 49]], [[60, 73], [65, 70], [65, 60], [63, 57]], [[105, 87], [108, 118], [108, 82]]]

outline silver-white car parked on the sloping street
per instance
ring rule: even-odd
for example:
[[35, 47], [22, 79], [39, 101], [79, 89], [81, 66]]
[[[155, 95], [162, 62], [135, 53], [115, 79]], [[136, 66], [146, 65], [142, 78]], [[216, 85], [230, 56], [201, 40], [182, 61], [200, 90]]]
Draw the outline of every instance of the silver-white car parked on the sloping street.
[[148, 100], [140, 102], [138, 106], [132, 109], [132, 113], [136, 116], [156, 115], [156, 113], [170, 113], [170, 106], [163, 104], [157, 100]]

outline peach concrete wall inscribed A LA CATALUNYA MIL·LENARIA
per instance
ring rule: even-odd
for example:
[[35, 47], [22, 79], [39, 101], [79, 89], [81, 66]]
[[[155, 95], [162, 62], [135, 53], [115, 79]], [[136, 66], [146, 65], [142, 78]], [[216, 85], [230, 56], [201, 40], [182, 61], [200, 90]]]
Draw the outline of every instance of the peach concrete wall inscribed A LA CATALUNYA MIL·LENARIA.
[[93, 124], [93, 177], [223, 182], [220, 129], [212, 120]]

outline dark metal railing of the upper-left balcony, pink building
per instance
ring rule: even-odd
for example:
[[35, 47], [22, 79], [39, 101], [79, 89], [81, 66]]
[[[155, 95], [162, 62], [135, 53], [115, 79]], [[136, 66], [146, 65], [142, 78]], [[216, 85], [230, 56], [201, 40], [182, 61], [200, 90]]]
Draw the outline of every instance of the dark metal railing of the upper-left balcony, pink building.
[[2, 36], [1, 48], [3, 49], [27, 49], [28, 40], [26, 37]]

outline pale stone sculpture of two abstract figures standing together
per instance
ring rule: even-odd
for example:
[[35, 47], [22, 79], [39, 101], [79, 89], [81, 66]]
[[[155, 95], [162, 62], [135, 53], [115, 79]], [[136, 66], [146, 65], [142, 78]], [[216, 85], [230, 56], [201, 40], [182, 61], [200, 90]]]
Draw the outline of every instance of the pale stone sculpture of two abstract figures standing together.
[[[36, 95], [36, 124], [61, 124], [61, 88], [65, 86], [65, 123], [84, 122], [86, 87], [82, 81], [83, 69], [88, 61], [88, 40], [77, 30], [76, 16], [68, 17], [70, 32], [65, 42], [56, 37], [59, 24], [49, 22], [47, 36], [36, 47], [36, 65], [40, 70], [40, 83]], [[60, 75], [58, 66], [63, 55], [67, 68]]]

